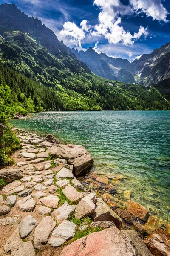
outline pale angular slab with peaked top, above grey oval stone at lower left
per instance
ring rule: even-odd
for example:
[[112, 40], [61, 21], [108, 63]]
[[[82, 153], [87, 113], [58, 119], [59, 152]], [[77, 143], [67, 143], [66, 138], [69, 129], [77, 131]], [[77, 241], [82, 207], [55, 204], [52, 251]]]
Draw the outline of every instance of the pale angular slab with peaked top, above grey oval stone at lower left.
[[32, 195], [28, 195], [26, 198], [17, 201], [18, 208], [23, 212], [31, 212], [35, 207], [35, 201]]

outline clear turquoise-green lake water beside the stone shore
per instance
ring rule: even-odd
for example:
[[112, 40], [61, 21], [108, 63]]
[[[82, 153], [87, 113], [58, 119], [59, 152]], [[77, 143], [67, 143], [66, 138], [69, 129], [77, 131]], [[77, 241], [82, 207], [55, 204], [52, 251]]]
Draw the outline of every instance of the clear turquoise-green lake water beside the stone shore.
[[96, 172], [126, 176], [116, 197], [125, 201], [129, 190], [130, 199], [170, 221], [170, 111], [56, 111], [11, 123], [84, 145]]

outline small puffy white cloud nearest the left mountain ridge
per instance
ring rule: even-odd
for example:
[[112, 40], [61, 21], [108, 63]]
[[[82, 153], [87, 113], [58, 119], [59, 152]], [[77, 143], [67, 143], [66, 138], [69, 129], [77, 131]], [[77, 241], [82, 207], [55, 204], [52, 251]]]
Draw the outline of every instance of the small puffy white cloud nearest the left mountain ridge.
[[65, 22], [60, 34], [62, 36], [71, 37], [71, 43], [75, 44], [79, 48], [82, 47], [81, 41], [85, 38], [85, 32], [80, 29], [75, 23]]

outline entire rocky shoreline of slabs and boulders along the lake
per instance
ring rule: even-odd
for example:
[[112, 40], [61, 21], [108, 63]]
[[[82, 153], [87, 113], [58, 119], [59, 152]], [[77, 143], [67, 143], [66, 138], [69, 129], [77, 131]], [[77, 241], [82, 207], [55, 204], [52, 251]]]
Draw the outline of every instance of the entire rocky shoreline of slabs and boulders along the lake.
[[170, 256], [170, 223], [128, 192], [115, 202], [108, 178], [79, 177], [94, 162], [84, 147], [15, 131], [22, 149], [0, 169], [0, 256]]

